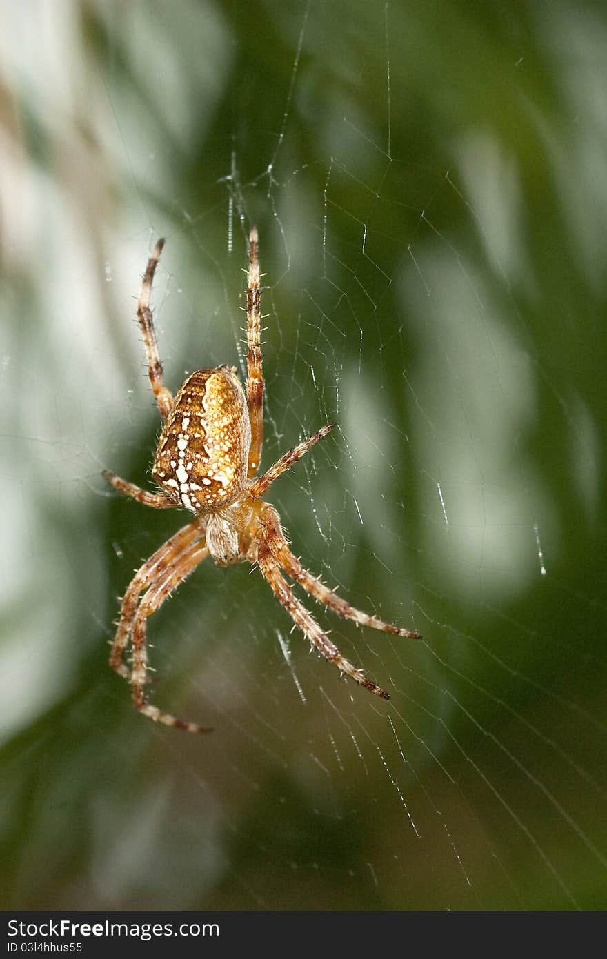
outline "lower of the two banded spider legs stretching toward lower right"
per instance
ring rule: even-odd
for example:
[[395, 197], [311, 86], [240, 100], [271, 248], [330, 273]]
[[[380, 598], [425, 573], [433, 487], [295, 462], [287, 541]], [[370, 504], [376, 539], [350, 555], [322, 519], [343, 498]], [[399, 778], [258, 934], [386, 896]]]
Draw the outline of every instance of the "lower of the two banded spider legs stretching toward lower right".
[[348, 676], [351, 676], [351, 678], [354, 679], [355, 682], [360, 683], [365, 690], [374, 692], [376, 696], [381, 696], [382, 699], [389, 699], [390, 697], [385, 690], [382, 690], [376, 683], [367, 679], [361, 669], [357, 669], [348, 660], [343, 658], [335, 643], [331, 642], [327, 634], [320, 628], [303, 603], [299, 602], [296, 596], [293, 595], [291, 586], [280, 573], [278, 560], [272, 550], [271, 532], [269, 532], [268, 539], [266, 538], [267, 535], [265, 527], [261, 526], [257, 550], [259, 569], [264, 578], [268, 580], [274, 596], [276, 596], [279, 602], [285, 607], [295, 625], [301, 629], [302, 633], [308, 637], [311, 643], [314, 643], [316, 649], [322, 653], [325, 659], [328, 659], [331, 663], [335, 663], [341, 672], [345, 672]]

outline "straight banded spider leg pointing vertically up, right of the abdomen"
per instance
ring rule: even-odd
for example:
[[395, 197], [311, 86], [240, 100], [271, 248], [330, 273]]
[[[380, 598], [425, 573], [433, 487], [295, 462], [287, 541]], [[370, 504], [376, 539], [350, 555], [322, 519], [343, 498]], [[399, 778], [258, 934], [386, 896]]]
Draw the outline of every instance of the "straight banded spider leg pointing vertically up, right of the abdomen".
[[249, 479], [259, 469], [264, 442], [264, 375], [262, 373], [261, 314], [262, 296], [259, 288], [259, 244], [257, 229], [251, 228], [248, 238], [248, 272], [246, 289], [246, 402], [251, 424], [251, 445], [248, 450]]

